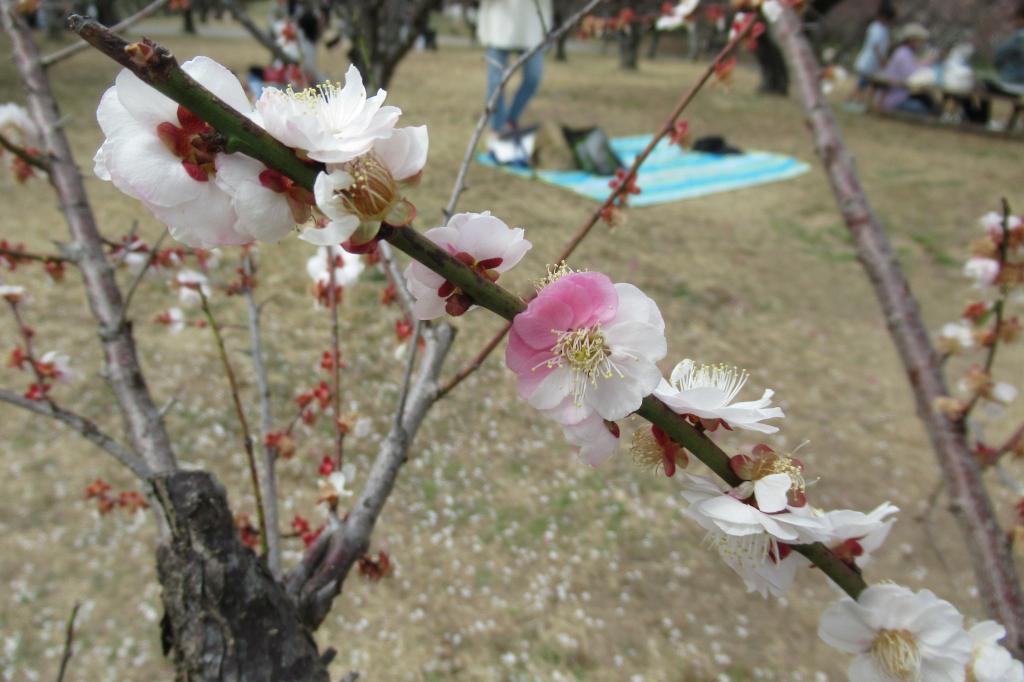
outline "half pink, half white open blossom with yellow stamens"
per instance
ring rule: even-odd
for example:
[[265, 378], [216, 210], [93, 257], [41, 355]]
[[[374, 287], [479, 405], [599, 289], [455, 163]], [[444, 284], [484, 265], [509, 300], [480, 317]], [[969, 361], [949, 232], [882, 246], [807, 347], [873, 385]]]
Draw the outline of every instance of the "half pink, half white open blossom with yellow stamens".
[[591, 414], [615, 421], [635, 412], [660, 381], [665, 321], [630, 284], [572, 272], [548, 285], [516, 315], [505, 361], [519, 394], [561, 424]]

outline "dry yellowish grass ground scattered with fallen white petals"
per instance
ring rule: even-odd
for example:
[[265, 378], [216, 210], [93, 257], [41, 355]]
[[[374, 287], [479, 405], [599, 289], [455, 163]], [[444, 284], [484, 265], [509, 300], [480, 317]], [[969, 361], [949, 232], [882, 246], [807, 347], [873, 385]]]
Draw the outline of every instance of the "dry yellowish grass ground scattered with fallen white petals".
[[[264, 55], [233, 38], [162, 39], [180, 58], [207, 54], [238, 72]], [[0, 44], [6, 54], [6, 43]], [[324, 55], [340, 77], [343, 57]], [[72, 143], [84, 169], [100, 141], [94, 111], [115, 66], [84, 53], [52, 71]], [[529, 112], [537, 120], [598, 124], [611, 135], [653, 129], [698, 67], [674, 58], [624, 74], [613, 57], [573, 54], [549, 61]], [[725, 134], [743, 147], [814, 163], [795, 101], [754, 94], [744, 70], [731, 88], [711, 87], [688, 114], [697, 134]], [[421, 229], [439, 223], [469, 129], [481, 106], [484, 63], [477, 49], [446, 47], [412, 55], [389, 101], [403, 121], [425, 123], [430, 161], [412, 199]], [[0, 101], [20, 100], [13, 68], [0, 59]], [[864, 184], [890, 228], [929, 325], [953, 319], [969, 299], [959, 263], [975, 221], [1006, 196], [1024, 206], [1019, 142], [919, 129], [841, 115]], [[114, 239], [138, 220], [147, 241], [160, 225], [113, 186], [87, 173], [93, 208]], [[502, 284], [524, 290], [543, 273], [593, 205], [557, 188], [474, 168], [461, 208], [489, 209], [526, 228], [535, 248]], [[0, 238], [37, 250], [67, 239], [45, 183], [13, 184], [0, 173]], [[261, 246], [259, 296], [279, 423], [292, 396], [313, 382], [327, 347], [326, 315], [313, 307], [305, 274], [311, 249], [297, 240]], [[233, 276], [227, 252], [215, 283]], [[745, 395], [777, 391], [786, 419], [765, 441], [801, 451], [812, 495], [824, 507], [868, 510], [891, 501], [903, 511], [869, 578], [929, 587], [980, 615], [958, 530], [940, 504], [915, 520], [937, 481], [934, 457], [872, 293], [815, 166], [798, 179], [683, 203], [636, 209], [626, 225], [600, 227], [573, 259], [613, 281], [636, 284], [660, 305], [669, 328], [668, 372], [694, 357], [750, 370]], [[124, 278], [127, 280], [128, 274]], [[95, 328], [74, 272], [51, 286], [38, 270], [9, 282], [32, 293], [27, 308], [41, 349], [73, 356], [78, 377], [58, 386], [58, 401], [112, 432], [119, 425], [99, 375]], [[367, 273], [343, 306], [344, 399], [373, 419], [373, 433], [352, 441], [361, 476], [388, 424], [401, 368], [395, 360], [397, 311], [382, 308], [381, 279]], [[222, 294], [215, 309], [240, 369], [255, 419], [243, 302]], [[153, 323], [176, 304], [167, 283], [139, 291], [132, 315], [157, 399], [174, 399], [168, 426], [183, 463], [214, 471], [239, 510], [252, 510], [244, 455], [226, 382], [208, 330], [178, 335]], [[191, 315], [197, 312], [193, 311]], [[15, 342], [0, 323], [0, 351]], [[498, 327], [486, 312], [455, 322], [457, 369]], [[954, 370], [959, 367], [954, 364]], [[1019, 348], [1001, 355], [1000, 376], [1020, 383]], [[24, 376], [0, 369], [0, 385]], [[1000, 435], [1019, 421], [1018, 404], [992, 422]], [[719, 441], [739, 451], [742, 432]], [[329, 444], [326, 421], [304, 432], [299, 454], [280, 467], [283, 519], [319, 520], [316, 465]], [[696, 467], [698, 468], [698, 467]], [[1024, 477], [1016, 465], [1011, 467]], [[69, 680], [151, 682], [172, 679], [160, 651], [160, 595], [150, 516], [100, 516], [83, 499], [96, 477], [117, 489], [132, 480], [106, 456], [63, 428], [0, 406], [0, 679], [53, 680], [72, 605], [82, 602]], [[1009, 517], [1013, 498], [992, 480]], [[593, 470], [574, 460], [558, 429], [516, 396], [500, 354], [439, 403], [381, 519], [374, 548], [396, 563], [393, 577], [369, 583], [353, 574], [325, 627], [322, 647], [339, 657], [336, 674], [366, 680], [841, 680], [847, 660], [815, 630], [835, 591], [807, 571], [783, 600], [763, 600], [701, 547], [701, 532], [680, 514], [675, 480], [651, 475], [621, 454]], [[299, 544], [290, 545], [294, 561]]]

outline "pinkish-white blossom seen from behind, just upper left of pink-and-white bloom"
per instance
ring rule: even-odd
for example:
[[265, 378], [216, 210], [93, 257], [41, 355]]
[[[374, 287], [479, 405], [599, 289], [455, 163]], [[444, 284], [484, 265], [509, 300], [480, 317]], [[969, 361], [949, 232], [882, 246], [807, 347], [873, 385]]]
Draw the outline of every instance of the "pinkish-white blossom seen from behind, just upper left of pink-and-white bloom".
[[[518, 264], [532, 246], [521, 227], [510, 228], [489, 211], [458, 213], [423, 236], [492, 282]], [[471, 305], [457, 287], [420, 262], [410, 263], [404, 275], [416, 298], [413, 313], [418, 319], [435, 319], [445, 309], [462, 314]]]

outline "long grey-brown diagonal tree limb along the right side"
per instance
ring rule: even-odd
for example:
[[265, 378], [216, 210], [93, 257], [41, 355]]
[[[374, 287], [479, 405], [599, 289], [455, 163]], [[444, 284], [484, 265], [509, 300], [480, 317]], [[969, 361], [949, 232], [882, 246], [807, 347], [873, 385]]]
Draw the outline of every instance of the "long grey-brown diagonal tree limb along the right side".
[[1009, 538], [995, 518], [963, 424], [934, 409], [936, 398], [948, 395], [939, 355], [882, 221], [860, 184], [850, 151], [821, 94], [820, 67], [804, 37], [800, 18], [786, 9], [775, 31], [797, 78], [814, 144], [833, 194], [906, 371], [918, 414], [942, 471], [950, 509], [964, 535], [981, 600], [989, 615], [1007, 628], [1002, 644], [1015, 656], [1021, 657], [1024, 654], [1024, 595]]

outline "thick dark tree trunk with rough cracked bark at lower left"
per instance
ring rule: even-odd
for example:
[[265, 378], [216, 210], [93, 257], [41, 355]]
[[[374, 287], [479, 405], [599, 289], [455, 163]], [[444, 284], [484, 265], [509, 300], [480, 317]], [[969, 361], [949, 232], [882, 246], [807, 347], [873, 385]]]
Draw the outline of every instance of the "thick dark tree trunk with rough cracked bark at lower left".
[[171, 529], [157, 570], [177, 682], [329, 682], [292, 600], [242, 545], [216, 479], [161, 474], [154, 492]]

